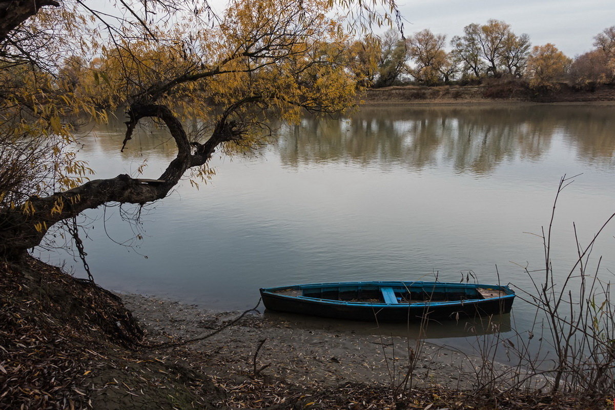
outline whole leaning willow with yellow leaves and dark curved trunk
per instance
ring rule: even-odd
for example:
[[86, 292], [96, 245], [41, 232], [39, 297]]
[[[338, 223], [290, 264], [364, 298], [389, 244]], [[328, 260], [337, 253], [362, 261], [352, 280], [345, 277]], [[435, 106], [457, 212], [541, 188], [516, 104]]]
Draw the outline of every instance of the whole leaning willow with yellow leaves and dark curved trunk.
[[[151, 203], [186, 175], [207, 178], [216, 150], [266, 143], [268, 118], [293, 121], [302, 111], [354, 105], [364, 81], [347, 68], [344, 28], [390, 22], [396, 12], [392, 0], [232, 1], [219, 16], [188, 0], [92, 7], [84, 0], [0, 4], [2, 259], [19, 258], [89, 208]], [[104, 122], [118, 109], [126, 114], [118, 151], [130, 149], [145, 120], [175, 141], [162, 175], [148, 175], [155, 182], [90, 179], [95, 171], [76, 159], [76, 124]], [[204, 127], [188, 133], [186, 119]]]

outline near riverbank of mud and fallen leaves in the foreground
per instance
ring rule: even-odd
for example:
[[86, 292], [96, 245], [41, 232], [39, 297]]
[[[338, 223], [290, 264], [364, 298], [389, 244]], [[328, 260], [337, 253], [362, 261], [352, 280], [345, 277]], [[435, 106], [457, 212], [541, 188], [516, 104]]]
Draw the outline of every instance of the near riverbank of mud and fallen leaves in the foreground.
[[0, 300], [2, 409], [606, 408], [407, 337], [118, 297], [33, 258], [0, 264]]

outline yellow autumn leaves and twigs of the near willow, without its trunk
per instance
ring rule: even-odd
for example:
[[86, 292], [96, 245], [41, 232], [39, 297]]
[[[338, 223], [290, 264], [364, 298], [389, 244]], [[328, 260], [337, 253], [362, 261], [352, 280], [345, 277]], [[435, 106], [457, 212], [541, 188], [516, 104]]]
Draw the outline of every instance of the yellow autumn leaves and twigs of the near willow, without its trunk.
[[[362, 0], [235, 0], [220, 18], [203, 20], [206, 6], [182, 9], [178, 2], [173, 15], [153, 2], [146, 17], [160, 12], [167, 18], [129, 20], [127, 13], [111, 23], [74, 0], [39, 10], [22, 27], [31, 34], [17, 39], [22, 48], [4, 50], [11, 57], [0, 60], [0, 138], [13, 149], [0, 157], [12, 170], [10, 180], [0, 181], [0, 207], [20, 203], [33, 213], [31, 195], [87, 181], [94, 171], [77, 160], [77, 125], [105, 122], [116, 109], [169, 106], [180, 119], [202, 124], [189, 136], [200, 143], [228, 116], [244, 137], [224, 143], [222, 152], [234, 154], [266, 143], [272, 117], [295, 122], [304, 109], [354, 106], [357, 91], [373, 77], [378, 47], [363, 42], [358, 61], [359, 44], [337, 9], [352, 21], [365, 18], [358, 28], [391, 22], [395, 4], [384, 4], [379, 14], [375, 3]], [[205, 181], [213, 175], [207, 165], [192, 173]], [[55, 203], [52, 213], [63, 206]]]

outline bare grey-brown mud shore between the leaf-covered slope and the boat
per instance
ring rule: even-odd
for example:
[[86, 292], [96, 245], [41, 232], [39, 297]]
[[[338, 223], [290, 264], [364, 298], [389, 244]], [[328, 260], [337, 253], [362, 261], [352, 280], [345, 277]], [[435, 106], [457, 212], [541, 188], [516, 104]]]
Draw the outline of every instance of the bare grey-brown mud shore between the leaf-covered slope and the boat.
[[[262, 369], [263, 374], [301, 385], [391, 385], [400, 382], [411, 366], [416, 386], [465, 389], [475, 387], [477, 373], [483, 368], [478, 357], [417, 343], [386, 328], [381, 334], [367, 334], [353, 331], [352, 326], [300, 327], [292, 318], [263, 315], [262, 307], [260, 312], [248, 312], [236, 321], [242, 312], [202, 309], [138, 294], [120, 296], [151, 341], [179, 342], [215, 333], [183, 348], [206, 358], [207, 374], [221, 379], [240, 380]], [[414, 364], [412, 355], [418, 355]]]

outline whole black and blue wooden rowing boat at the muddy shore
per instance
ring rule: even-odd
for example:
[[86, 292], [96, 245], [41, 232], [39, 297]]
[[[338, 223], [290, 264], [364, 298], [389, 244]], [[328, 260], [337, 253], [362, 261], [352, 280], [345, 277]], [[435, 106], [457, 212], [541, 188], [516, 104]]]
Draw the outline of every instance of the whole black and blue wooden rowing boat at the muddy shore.
[[270, 310], [386, 322], [508, 313], [515, 299], [508, 286], [445, 282], [311, 283], [260, 292]]

